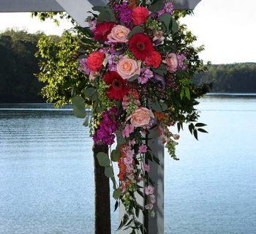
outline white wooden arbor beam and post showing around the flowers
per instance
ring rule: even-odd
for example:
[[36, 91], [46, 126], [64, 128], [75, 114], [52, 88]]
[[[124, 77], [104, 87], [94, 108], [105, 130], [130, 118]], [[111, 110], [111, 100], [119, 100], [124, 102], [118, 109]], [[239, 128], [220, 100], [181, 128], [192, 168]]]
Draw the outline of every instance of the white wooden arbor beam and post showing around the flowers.
[[[201, 0], [175, 0], [176, 10], [193, 10]], [[80, 24], [86, 26], [85, 18], [87, 11], [92, 6], [105, 5], [106, 0], [0, 0], [0, 12], [62, 12], [65, 11]], [[151, 163], [150, 177], [156, 183], [155, 195], [157, 203], [155, 204], [155, 218], [149, 218], [147, 234], [164, 233], [164, 147], [158, 140], [149, 142], [153, 153], [158, 156], [160, 166]], [[140, 199], [141, 205], [144, 201]], [[119, 210], [119, 216], [124, 214], [124, 207]], [[140, 221], [143, 222], [143, 216], [140, 215]], [[121, 231], [124, 234], [124, 231]], [[127, 232], [128, 233], [128, 232]]]

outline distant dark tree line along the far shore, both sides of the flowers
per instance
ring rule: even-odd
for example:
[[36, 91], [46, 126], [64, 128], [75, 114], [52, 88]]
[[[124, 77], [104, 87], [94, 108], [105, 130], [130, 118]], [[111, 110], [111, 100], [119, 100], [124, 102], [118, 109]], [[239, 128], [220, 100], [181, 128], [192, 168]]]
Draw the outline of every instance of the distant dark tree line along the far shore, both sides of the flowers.
[[[45, 102], [39, 95], [45, 85], [35, 75], [39, 59], [34, 56], [44, 35], [13, 29], [0, 33], [0, 102]], [[213, 83], [213, 92], [256, 93], [256, 63], [211, 65], [196, 75], [195, 83]]]

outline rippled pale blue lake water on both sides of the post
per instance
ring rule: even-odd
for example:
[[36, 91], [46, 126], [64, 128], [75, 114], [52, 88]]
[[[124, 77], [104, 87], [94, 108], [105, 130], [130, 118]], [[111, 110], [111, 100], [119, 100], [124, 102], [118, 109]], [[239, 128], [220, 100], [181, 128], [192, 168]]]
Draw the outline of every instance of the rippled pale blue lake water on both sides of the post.
[[[0, 105], [1, 234], [94, 233], [92, 142], [69, 108]], [[209, 134], [186, 129], [181, 160], [165, 156], [165, 233], [255, 234], [256, 98], [198, 109]]]

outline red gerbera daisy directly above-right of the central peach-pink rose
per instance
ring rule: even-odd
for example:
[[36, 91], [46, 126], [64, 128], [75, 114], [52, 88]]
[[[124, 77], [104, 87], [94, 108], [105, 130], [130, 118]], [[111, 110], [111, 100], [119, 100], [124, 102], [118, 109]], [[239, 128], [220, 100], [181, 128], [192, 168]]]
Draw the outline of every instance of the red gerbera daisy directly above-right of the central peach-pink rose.
[[153, 42], [145, 34], [134, 34], [129, 39], [129, 50], [136, 59], [145, 60], [154, 51]]

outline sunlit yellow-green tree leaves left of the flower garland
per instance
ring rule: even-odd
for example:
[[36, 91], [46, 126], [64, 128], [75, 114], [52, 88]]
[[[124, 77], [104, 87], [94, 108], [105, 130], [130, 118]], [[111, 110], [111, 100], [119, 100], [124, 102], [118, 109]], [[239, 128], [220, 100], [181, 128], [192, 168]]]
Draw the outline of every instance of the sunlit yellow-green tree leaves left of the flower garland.
[[59, 106], [69, 103], [76, 95], [83, 95], [81, 90], [86, 88], [88, 79], [78, 71], [78, 64], [72, 59], [78, 56], [78, 37], [66, 31], [56, 42], [52, 37], [43, 35], [37, 48], [36, 56], [40, 58], [41, 70], [37, 77], [45, 83], [43, 97]]

